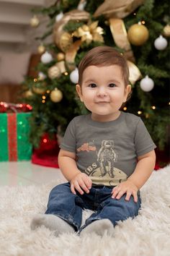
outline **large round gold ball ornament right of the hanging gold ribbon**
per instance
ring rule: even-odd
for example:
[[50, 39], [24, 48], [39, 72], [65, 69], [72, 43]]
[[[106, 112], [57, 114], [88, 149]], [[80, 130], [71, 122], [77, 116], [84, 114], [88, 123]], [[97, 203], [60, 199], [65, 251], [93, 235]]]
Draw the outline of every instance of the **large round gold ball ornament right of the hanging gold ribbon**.
[[134, 24], [128, 30], [128, 39], [134, 46], [142, 46], [148, 40], [148, 29], [144, 25]]

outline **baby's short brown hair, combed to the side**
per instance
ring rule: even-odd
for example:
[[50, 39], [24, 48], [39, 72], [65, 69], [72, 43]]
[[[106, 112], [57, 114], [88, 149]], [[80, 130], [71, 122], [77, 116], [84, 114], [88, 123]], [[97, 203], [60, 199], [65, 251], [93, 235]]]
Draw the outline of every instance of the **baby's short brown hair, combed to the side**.
[[81, 85], [84, 70], [89, 66], [118, 65], [122, 69], [125, 86], [129, 84], [129, 69], [125, 58], [110, 46], [97, 46], [92, 48], [79, 63], [79, 85]]

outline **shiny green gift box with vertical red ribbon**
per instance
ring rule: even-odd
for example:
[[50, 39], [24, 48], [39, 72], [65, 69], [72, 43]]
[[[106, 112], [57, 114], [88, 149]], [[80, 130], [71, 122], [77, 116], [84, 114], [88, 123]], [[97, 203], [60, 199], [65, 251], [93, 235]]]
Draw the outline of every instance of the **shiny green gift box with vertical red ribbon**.
[[31, 113], [0, 114], [0, 161], [31, 159], [30, 115]]

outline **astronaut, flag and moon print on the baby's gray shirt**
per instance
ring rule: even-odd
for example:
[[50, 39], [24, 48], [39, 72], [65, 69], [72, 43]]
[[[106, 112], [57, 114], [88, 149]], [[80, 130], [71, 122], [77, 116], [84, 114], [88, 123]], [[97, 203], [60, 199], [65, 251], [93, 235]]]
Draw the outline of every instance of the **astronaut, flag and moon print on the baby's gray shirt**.
[[[102, 140], [97, 150], [95, 140], [86, 142], [81, 147], [77, 148], [78, 152], [86, 151], [88, 154], [96, 154], [96, 162], [91, 163], [84, 171], [91, 177], [95, 184], [105, 184], [114, 186], [127, 179], [125, 172], [115, 168], [115, 162], [118, 160], [118, 153], [115, 150], [113, 140]], [[95, 159], [95, 158], [91, 158]]]

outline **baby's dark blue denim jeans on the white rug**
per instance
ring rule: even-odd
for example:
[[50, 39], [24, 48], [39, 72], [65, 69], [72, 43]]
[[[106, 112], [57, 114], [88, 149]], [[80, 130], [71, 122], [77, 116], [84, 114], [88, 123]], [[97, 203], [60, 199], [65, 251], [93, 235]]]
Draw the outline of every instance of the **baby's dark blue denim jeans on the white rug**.
[[[91, 187], [89, 194], [79, 192], [74, 195], [71, 192], [70, 183], [60, 184], [54, 187], [49, 196], [48, 209], [45, 214], [53, 214], [67, 221], [74, 227], [76, 231], [81, 231], [86, 225], [92, 221], [104, 218], [112, 221], [113, 225], [117, 221], [124, 221], [129, 217], [138, 215], [140, 208], [140, 194], [138, 193], [138, 202], [134, 202], [133, 196], [129, 201], [125, 200], [123, 195], [120, 200], [111, 197], [113, 187], [97, 186]], [[86, 219], [86, 223], [81, 227], [82, 210], [89, 209], [95, 212]], [[81, 229], [80, 229], [81, 227]]]

